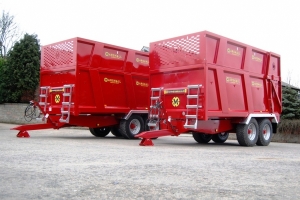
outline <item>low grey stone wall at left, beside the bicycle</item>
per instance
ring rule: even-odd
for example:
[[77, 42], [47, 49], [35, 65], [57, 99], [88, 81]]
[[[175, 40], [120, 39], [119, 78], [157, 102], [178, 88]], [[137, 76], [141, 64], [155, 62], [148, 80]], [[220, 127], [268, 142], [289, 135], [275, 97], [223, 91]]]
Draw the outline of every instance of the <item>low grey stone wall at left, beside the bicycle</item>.
[[28, 103], [4, 103], [0, 104], [0, 123], [10, 124], [33, 124], [37, 120], [30, 122], [24, 119], [24, 112]]

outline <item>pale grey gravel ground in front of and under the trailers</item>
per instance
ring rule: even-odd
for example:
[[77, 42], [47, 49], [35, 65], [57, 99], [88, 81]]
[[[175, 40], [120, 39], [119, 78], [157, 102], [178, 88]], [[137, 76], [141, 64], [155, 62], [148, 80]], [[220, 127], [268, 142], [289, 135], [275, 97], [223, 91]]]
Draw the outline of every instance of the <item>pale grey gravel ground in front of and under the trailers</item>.
[[300, 199], [300, 144], [96, 138], [0, 123], [0, 199]]

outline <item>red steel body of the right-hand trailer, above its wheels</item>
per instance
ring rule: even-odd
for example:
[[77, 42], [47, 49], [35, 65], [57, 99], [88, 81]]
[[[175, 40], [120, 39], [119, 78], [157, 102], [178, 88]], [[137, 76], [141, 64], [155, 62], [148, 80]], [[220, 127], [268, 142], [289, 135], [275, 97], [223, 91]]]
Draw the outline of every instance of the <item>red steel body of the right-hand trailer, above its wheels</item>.
[[208, 31], [150, 44], [150, 88], [164, 88], [162, 118], [185, 120], [187, 92], [178, 91], [198, 84], [199, 120], [281, 112], [278, 54]]

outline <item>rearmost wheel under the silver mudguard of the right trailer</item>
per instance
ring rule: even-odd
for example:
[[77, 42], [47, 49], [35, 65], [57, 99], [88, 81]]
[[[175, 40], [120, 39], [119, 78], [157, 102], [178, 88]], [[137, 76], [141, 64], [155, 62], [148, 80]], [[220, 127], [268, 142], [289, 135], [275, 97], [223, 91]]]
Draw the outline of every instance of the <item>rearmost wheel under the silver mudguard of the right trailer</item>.
[[258, 121], [258, 146], [268, 146], [273, 136], [273, 128], [269, 119], [262, 119]]

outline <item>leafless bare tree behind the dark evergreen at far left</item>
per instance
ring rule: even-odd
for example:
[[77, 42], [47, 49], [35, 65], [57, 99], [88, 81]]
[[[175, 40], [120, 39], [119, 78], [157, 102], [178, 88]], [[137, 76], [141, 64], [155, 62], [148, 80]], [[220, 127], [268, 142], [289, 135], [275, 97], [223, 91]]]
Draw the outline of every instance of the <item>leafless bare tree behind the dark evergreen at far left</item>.
[[0, 57], [6, 56], [19, 37], [19, 27], [14, 22], [14, 16], [3, 11], [0, 17]]

